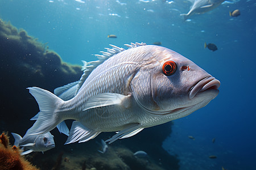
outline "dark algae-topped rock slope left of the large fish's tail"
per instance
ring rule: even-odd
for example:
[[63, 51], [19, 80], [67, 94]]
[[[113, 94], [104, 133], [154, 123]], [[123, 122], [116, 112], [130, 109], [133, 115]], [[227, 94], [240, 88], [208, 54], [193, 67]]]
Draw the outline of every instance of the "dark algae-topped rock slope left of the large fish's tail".
[[[47, 50], [23, 29], [16, 29], [10, 23], [0, 20], [0, 130], [7, 125], [22, 125], [28, 129], [30, 120], [38, 113], [36, 101], [26, 90], [37, 86], [49, 91], [80, 79], [81, 67], [61, 61], [60, 56]], [[23, 123], [22, 123], [23, 122]], [[24, 124], [30, 122], [31, 124]], [[24, 134], [9, 127], [10, 131]]]

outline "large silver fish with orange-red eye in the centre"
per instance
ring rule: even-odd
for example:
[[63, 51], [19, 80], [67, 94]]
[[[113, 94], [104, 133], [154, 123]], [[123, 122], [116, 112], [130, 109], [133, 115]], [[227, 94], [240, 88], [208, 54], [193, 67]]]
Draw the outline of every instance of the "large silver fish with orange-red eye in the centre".
[[28, 134], [43, 134], [73, 119], [67, 143], [119, 131], [106, 142], [188, 116], [218, 95], [220, 82], [189, 59], [163, 46], [136, 43], [96, 55], [85, 66], [75, 97], [64, 101], [47, 90], [28, 90], [40, 114]]

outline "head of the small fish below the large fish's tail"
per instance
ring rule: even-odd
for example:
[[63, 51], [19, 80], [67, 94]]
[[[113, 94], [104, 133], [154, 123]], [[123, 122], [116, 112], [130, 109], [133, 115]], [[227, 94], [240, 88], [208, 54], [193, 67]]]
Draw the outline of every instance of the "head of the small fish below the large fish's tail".
[[38, 135], [35, 142], [36, 150], [38, 151], [47, 151], [51, 148], [55, 147], [55, 142], [53, 139], [53, 135], [51, 133], [45, 133], [42, 135]]

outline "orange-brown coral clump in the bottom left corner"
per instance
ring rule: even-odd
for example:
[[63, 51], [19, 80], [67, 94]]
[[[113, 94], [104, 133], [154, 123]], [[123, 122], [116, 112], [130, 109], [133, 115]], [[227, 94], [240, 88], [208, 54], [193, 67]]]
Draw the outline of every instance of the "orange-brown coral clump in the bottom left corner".
[[0, 136], [0, 169], [5, 170], [36, 170], [27, 160], [20, 155], [20, 149], [9, 145], [9, 137], [2, 133]]

